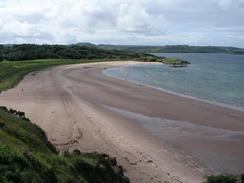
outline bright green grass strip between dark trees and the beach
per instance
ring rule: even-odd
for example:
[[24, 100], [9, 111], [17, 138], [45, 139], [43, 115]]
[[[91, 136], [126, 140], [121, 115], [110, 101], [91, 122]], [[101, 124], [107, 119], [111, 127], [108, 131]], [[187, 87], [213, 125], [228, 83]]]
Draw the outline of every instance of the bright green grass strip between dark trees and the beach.
[[32, 61], [3, 61], [0, 62], [0, 92], [14, 87], [26, 74], [33, 71], [58, 65], [102, 61], [107, 60], [45, 59]]

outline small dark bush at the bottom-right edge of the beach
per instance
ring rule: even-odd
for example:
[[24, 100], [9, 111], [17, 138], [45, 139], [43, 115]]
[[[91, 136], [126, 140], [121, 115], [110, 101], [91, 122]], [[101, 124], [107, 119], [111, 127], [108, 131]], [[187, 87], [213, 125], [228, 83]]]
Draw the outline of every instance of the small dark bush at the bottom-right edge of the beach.
[[234, 175], [211, 175], [204, 183], [236, 183], [239, 177]]

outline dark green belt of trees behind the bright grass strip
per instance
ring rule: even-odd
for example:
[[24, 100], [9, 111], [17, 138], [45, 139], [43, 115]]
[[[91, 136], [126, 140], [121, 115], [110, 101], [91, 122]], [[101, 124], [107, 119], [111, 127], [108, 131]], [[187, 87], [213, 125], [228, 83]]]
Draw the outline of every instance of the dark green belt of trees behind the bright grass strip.
[[0, 61], [35, 59], [131, 59], [140, 54], [83, 45], [0, 45]]

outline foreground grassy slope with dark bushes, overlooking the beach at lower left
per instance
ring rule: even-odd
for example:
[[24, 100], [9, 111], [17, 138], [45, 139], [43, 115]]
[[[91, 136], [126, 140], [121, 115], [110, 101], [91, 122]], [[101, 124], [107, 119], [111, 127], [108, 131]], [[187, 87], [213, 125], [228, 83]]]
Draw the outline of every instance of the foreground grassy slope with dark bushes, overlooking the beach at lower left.
[[1, 183], [128, 183], [115, 158], [75, 150], [59, 155], [24, 113], [0, 107]]

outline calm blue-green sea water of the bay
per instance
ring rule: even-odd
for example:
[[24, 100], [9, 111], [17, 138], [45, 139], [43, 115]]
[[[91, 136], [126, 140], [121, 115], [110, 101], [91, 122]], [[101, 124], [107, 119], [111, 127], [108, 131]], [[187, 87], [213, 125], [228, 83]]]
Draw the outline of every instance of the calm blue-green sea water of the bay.
[[162, 53], [191, 62], [185, 68], [137, 64], [107, 69], [105, 74], [177, 94], [244, 109], [244, 55]]

